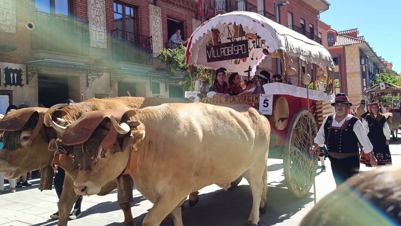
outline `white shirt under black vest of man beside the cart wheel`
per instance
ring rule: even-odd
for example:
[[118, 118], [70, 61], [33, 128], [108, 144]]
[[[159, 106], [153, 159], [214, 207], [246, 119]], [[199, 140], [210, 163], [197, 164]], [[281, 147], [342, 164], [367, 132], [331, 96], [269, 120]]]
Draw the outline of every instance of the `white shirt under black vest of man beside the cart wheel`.
[[[337, 122], [335, 119], [336, 115], [333, 115], [333, 121], [331, 123], [331, 126], [335, 127], [341, 127], [344, 124], [345, 120], [350, 120], [352, 118], [352, 115], [348, 114], [345, 116], [345, 118], [341, 122]], [[326, 124], [327, 117], [324, 119], [322, 126], [320, 126], [319, 132], [316, 135], [316, 138], [314, 142], [319, 145], [319, 147], [323, 147], [324, 145], [324, 124]], [[371, 142], [369, 141], [368, 136], [366, 135], [367, 133], [365, 132], [365, 129], [363, 128], [362, 122], [358, 119], [358, 121], [355, 122], [354, 127], [352, 129], [358, 138], [360, 144], [363, 146], [363, 152], [369, 153], [373, 150], [373, 146]]]

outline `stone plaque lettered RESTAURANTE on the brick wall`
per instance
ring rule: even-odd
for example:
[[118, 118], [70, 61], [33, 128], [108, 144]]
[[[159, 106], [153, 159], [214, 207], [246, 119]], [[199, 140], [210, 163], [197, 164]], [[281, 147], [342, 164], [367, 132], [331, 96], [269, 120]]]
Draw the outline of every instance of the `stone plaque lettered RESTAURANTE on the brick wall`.
[[88, 0], [91, 46], [107, 48], [105, 0]]

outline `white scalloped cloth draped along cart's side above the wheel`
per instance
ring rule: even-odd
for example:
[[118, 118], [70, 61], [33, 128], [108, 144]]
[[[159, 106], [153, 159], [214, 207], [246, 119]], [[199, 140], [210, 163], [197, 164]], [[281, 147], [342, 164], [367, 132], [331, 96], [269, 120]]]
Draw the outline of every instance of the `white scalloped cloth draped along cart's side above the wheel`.
[[[265, 94], [280, 94], [280, 95], [291, 95], [301, 98], [306, 98], [306, 88], [293, 86], [281, 82], [272, 82], [263, 85]], [[253, 91], [255, 88], [250, 89]], [[324, 102], [334, 102], [334, 95], [326, 94], [325, 92], [320, 92], [317, 90], [309, 89], [309, 99], [311, 100], [323, 100]]]

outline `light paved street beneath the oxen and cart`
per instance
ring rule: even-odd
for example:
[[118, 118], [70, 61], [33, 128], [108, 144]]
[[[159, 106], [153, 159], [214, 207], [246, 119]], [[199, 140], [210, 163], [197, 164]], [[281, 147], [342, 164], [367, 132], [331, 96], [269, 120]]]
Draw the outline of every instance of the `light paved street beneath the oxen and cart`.
[[[390, 150], [393, 165], [401, 163], [401, 141], [392, 142]], [[286, 188], [283, 175], [282, 160], [268, 160], [268, 205], [267, 213], [261, 215], [259, 226], [298, 225], [306, 213], [314, 206], [313, 187], [308, 196], [294, 198]], [[316, 197], [323, 196], [335, 189], [330, 162], [326, 159], [327, 172], [316, 176]], [[371, 170], [361, 166], [361, 171]], [[17, 188], [16, 193], [8, 192], [8, 184], [0, 195], [0, 226], [53, 226], [57, 220], [50, 219], [50, 214], [57, 211], [57, 196], [51, 191], [38, 190], [39, 179], [31, 181], [29, 188]], [[208, 186], [200, 191], [199, 202], [190, 208], [184, 204], [182, 219], [186, 226], [244, 226], [251, 210], [251, 192], [245, 179], [237, 188], [225, 192], [216, 185]], [[117, 206], [117, 190], [107, 196], [84, 197], [82, 202], [83, 216], [69, 221], [69, 226], [122, 226], [124, 215]], [[137, 225], [142, 224], [152, 203], [134, 190], [132, 213]], [[173, 226], [172, 219], [167, 217], [162, 226]]]

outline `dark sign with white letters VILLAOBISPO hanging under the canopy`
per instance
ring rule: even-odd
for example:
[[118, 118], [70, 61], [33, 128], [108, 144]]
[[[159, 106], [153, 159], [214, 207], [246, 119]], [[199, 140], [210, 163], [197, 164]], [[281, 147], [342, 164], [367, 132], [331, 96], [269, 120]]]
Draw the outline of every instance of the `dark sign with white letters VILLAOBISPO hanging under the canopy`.
[[207, 62], [249, 57], [248, 40], [206, 46]]

